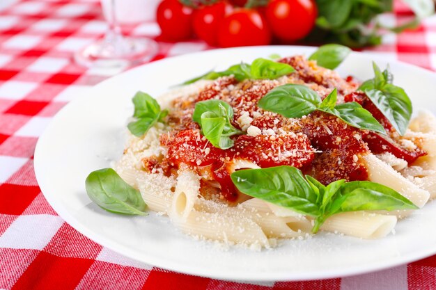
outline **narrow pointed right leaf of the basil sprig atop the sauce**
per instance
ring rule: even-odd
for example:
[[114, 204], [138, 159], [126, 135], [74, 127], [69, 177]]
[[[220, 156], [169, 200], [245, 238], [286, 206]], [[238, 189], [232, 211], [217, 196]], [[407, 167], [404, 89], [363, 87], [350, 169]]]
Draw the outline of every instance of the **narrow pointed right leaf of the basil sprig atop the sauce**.
[[380, 124], [371, 113], [362, 108], [362, 106], [357, 102], [338, 104], [333, 109], [319, 108], [319, 110], [335, 115], [352, 127], [361, 130], [375, 131], [386, 135], [386, 131], [384, 131], [382, 124]]

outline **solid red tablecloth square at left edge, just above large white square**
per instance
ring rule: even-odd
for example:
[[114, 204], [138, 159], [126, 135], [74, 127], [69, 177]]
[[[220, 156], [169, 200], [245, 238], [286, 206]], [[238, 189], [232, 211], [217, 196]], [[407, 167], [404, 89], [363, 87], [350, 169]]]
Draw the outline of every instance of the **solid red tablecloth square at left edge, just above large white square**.
[[20, 215], [40, 193], [38, 186], [0, 185], [0, 214]]

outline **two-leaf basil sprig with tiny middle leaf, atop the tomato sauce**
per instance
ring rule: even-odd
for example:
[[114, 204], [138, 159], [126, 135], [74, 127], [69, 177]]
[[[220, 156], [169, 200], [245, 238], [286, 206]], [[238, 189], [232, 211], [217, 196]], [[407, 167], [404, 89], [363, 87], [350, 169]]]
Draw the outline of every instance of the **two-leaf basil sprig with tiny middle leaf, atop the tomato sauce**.
[[301, 118], [316, 110], [323, 111], [352, 127], [386, 134], [383, 126], [357, 102], [336, 105], [336, 99], [336, 89], [321, 102], [321, 97], [311, 88], [290, 83], [270, 90], [259, 100], [258, 106], [286, 118]]

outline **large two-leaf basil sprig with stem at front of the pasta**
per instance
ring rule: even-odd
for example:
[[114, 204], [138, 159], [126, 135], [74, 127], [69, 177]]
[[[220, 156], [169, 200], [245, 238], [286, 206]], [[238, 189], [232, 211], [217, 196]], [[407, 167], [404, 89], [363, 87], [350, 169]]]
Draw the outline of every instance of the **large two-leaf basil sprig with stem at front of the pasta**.
[[315, 218], [312, 232], [334, 214], [346, 211], [418, 209], [393, 189], [375, 182], [345, 182], [324, 186], [293, 166], [238, 170], [231, 175], [242, 193]]

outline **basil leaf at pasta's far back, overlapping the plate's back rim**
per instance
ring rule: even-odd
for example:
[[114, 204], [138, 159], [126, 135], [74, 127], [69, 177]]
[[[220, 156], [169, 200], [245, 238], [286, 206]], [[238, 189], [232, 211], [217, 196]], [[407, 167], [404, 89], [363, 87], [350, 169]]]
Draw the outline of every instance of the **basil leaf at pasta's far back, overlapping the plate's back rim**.
[[322, 45], [309, 60], [316, 61], [321, 67], [334, 70], [350, 54], [351, 49], [343, 45]]

